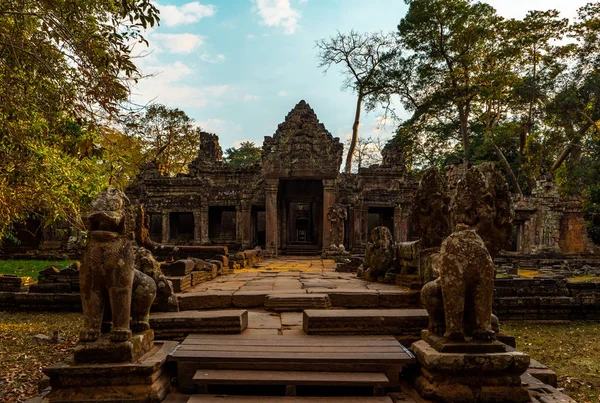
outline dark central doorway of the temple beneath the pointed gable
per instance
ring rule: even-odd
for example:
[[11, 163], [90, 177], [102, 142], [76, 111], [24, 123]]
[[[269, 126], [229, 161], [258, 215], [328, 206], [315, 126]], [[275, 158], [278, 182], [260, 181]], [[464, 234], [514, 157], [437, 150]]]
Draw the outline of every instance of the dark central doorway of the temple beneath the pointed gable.
[[290, 253], [319, 250], [322, 244], [323, 184], [283, 180], [280, 184], [280, 244]]

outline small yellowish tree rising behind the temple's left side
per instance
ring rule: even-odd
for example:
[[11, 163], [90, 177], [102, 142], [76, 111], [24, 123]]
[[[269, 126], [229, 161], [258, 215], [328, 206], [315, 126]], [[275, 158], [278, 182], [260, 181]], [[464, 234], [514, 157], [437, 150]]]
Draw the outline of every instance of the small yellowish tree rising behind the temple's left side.
[[140, 139], [145, 161], [155, 161], [160, 170], [175, 176], [184, 173], [198, 154], [200, 129], [177, 108], [150, 105], [142, 116], [130, 117], [125, 132]]

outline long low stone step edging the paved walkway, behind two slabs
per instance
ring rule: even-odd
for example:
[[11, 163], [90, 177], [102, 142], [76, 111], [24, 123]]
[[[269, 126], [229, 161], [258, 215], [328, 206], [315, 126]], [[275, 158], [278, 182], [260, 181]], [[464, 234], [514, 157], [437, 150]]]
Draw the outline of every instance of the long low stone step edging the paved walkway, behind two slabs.
[[[300, 295], [326, 294], [333, 308], [417, 308], [419, 307], [418, 291], [398, 289], [356, 290], [356, 289], [294, 289], [294, 290], [229, 290], [229, 291], [200, 291], [177, 294], [179, 309], [225, 309], [225, 308], [262, 308], [267, 307], [269, 295], [290, 295], [298, 298]], [[310, 299], [310, 297], [307, 297]], [[310, 309], [311, 305], [301, 307]], [[269, 309], [267, 307], [267, 309]], [[299, 309], [302, 310], [302, 309]]]

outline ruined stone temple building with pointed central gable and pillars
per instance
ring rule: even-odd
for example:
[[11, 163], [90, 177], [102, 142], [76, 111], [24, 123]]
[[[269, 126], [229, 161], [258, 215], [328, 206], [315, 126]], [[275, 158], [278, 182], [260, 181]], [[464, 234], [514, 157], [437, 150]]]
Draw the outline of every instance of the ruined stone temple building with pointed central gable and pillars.
[[[386, 147], [382, 165], [340, 174], [343, 145], [304, 101], [265, 137], [262, 165], [224, 164], [214, 134], [202, 133], [200, 143], [188, 174], [162, 176], [150, 164], [128, 190], [145, 206], [156, 242], [260, 246], [272, 255], [327, 252], [336, 240], [362, 252], [377, 226], [387, 227], [394, 241], [409, 239], [418, 183], [406, 173], [402, 150]], [[327, 217], [336, 204], [346, 209], [343, 234], [332, 231]]]

